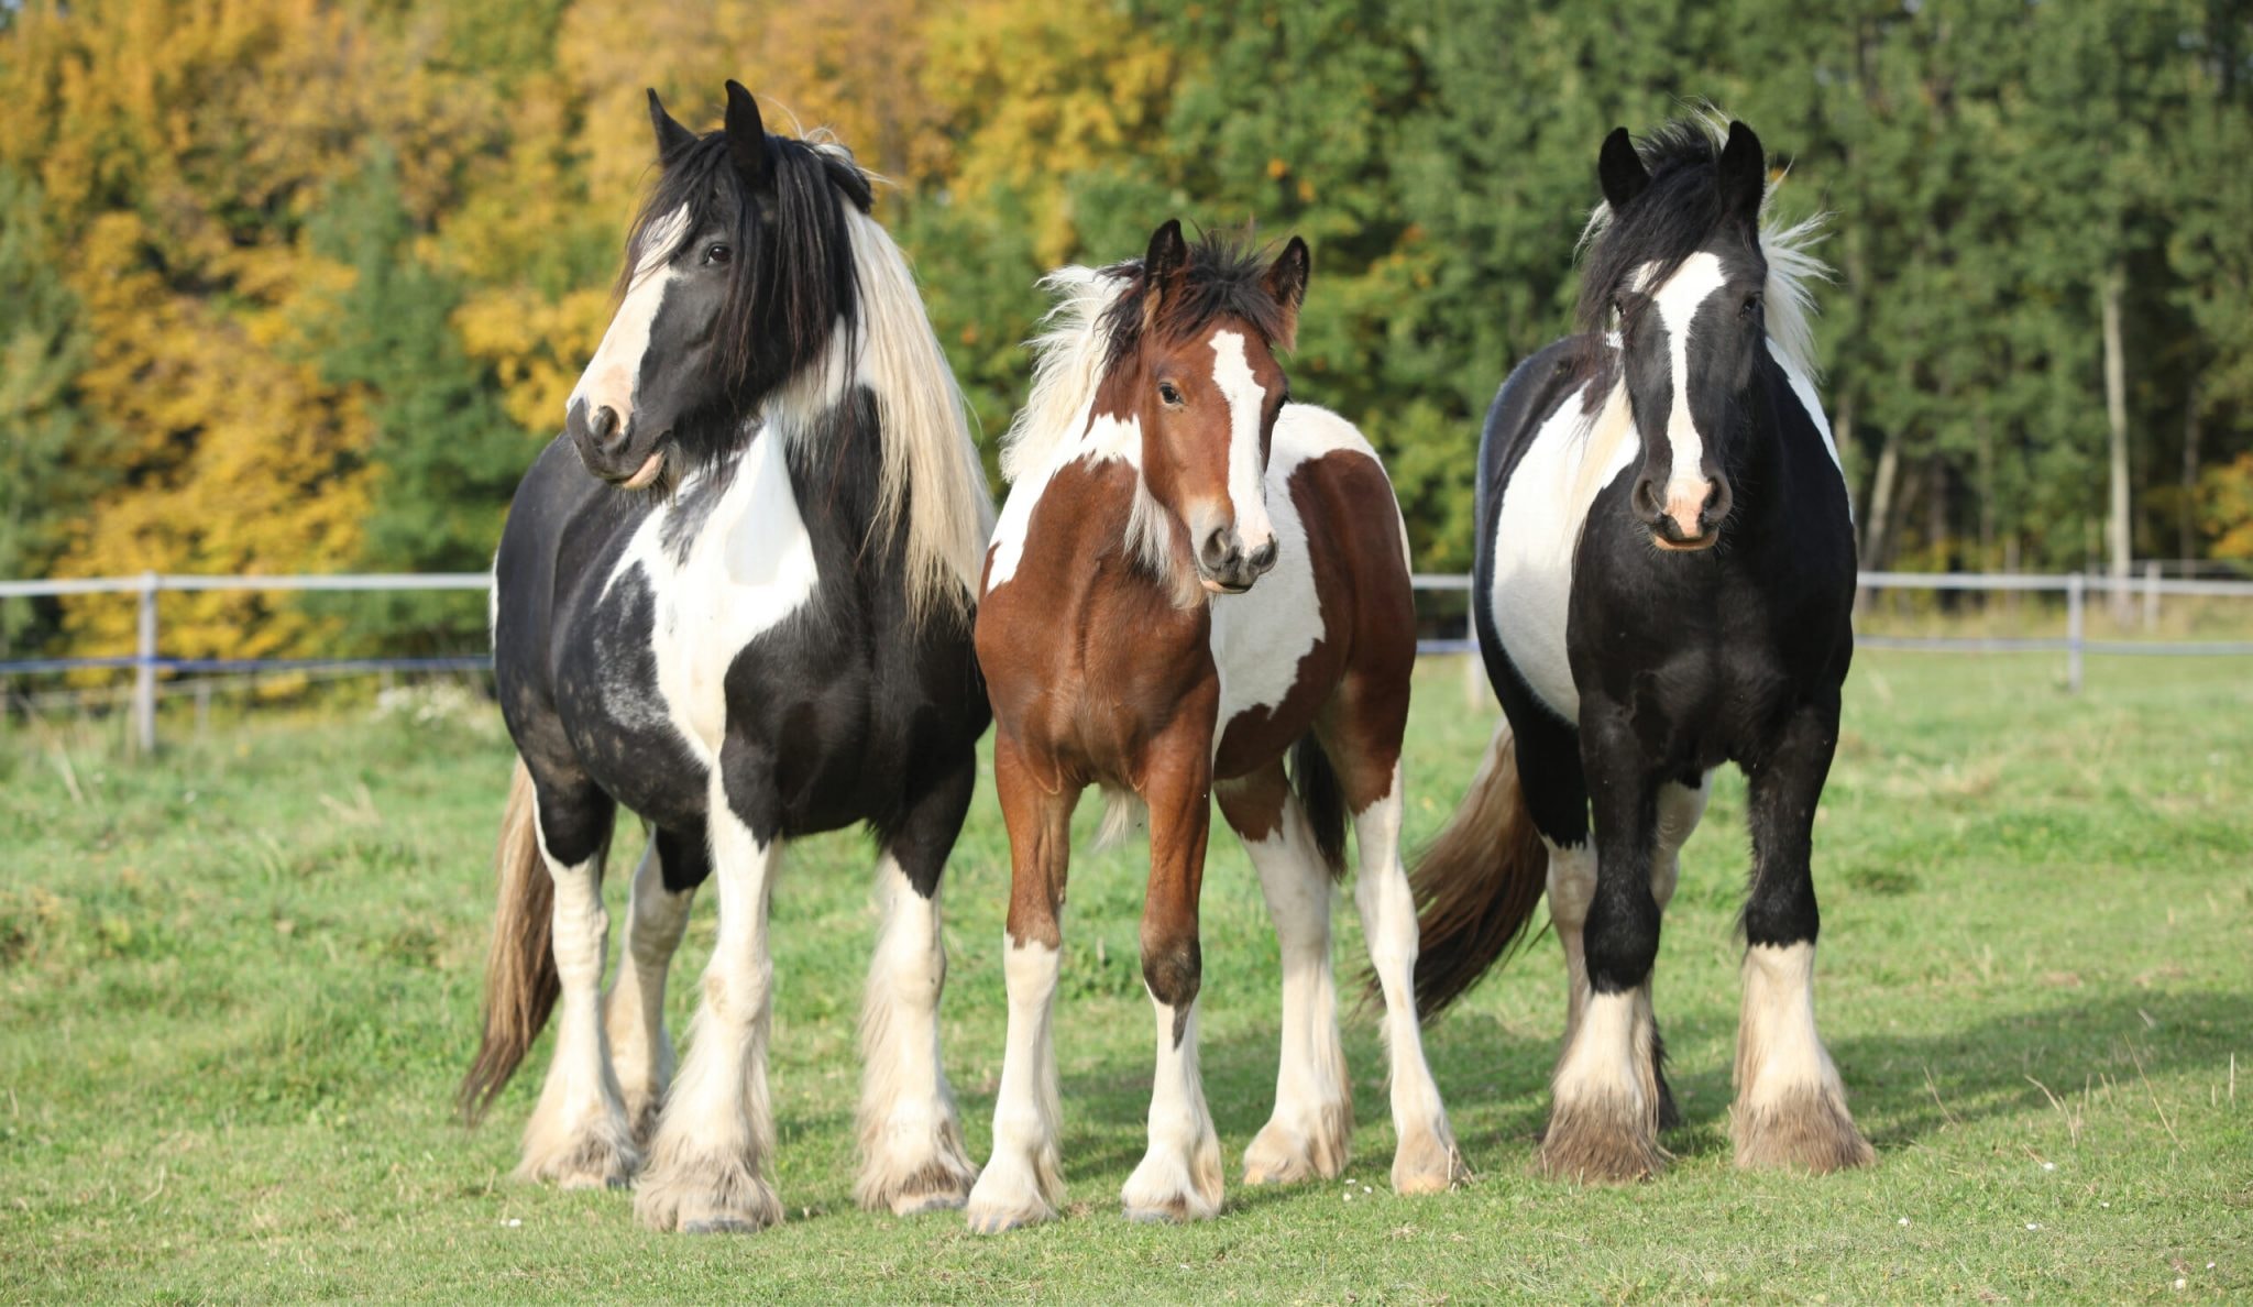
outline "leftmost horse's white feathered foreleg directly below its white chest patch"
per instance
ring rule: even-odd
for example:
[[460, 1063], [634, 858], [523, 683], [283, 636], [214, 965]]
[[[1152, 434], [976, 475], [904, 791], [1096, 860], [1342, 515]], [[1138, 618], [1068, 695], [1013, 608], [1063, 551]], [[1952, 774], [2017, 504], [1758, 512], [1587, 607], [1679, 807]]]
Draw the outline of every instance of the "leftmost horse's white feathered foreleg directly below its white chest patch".
[[775, 983], [766, 904], [782, 863], [782, 829], [773, 764], [762, 748], [730, 737], [710, 784], [705, 827], [719, 940], [633, 1210], [658, 1230], [741, 1233], [782, 1221], [768, 1181], [775, 1118], [766, 1095]]

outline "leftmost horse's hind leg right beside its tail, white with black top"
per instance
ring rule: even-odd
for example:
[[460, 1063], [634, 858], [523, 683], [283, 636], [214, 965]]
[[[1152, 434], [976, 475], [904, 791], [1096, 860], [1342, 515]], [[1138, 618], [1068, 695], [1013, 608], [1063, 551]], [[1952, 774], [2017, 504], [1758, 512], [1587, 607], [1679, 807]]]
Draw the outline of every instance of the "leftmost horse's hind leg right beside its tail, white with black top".
[[525, 1124], [516, 1174], [566, 1190], [622, 1188], [640, 1167], [611, 1046], [602, 1030], [602, 967], [611, 917], [602, 908], [602, 863], [617, 804], [593, 784], [538, 786], [541, 861], [554, 877], [550, 942], [561, 983], [554, 1059]]

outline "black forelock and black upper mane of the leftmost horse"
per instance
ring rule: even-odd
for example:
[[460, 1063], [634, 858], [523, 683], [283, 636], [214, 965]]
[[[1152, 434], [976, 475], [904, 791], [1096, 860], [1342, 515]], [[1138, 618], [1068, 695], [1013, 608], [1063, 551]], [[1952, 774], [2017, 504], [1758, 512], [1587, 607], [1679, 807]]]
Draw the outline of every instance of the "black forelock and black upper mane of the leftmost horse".
[[671, 151], [633, 219], [626, 266], [617, 275], [617, 295], [624, 295], [644, 241], [674, 210], [687, 207], [689, 221], [665, 250], [667, 259], [716, 221], [730, 228], [734, 261], [716, 324], [714, 381], [739, 403], [816, 363], [840, 318], [847, 329], [858, 327], [843, 203], [865, 214], [874, 201], [867, 174], [840, 149], [768, 135], [766, 174], [755, 187], [737, 169], [725, 131]]

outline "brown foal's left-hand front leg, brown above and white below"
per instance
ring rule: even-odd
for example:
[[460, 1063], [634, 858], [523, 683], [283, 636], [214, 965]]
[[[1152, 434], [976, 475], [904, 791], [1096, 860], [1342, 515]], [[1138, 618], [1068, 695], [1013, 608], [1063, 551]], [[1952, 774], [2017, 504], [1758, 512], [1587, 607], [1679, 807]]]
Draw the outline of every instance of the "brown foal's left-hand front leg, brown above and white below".
[[1007, 737], [994, 737], [994, 789], [1009, 827], [1009, 924], [1003, 976], [1009, 1039], [994, 1097], [994, 1158], [971, 1185], [971, 1230], [996, 1235], [1052, 1221], [1063, 1201], [1057, 1133], [1057, 1046], [1050, 1019], [1063, 967], [1063, 877], [1072, 861], [1079, 789], [1050, 791]]

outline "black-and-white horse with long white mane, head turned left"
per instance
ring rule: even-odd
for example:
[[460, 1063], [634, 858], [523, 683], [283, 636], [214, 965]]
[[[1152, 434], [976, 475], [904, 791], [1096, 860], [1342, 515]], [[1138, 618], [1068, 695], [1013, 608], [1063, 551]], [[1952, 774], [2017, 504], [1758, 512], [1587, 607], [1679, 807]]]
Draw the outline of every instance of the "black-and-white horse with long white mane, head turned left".
[[[464, 1106], [561, 994], [520, 1174], [640, 1172], [658, 1228], [780, 1221], [768, 890], [791, 838], [865, 823], [883, 926], [856, 1197], [960, 1206], [976, 1170], [940, 1068], [937, 895], [989, 719], [971, 604], [991, 530], [962, 397], [843, 146], [766, 135], [732, 81], [723, 131], [689, 133], [656, 92], [649, 113], [662, 167], [617, 315], [493, 561], [523, 762]], [[651, 838], [604, 994], [620, 804]], [[665, 971], [707, 877], [719, 942], [671, 1075]]]

